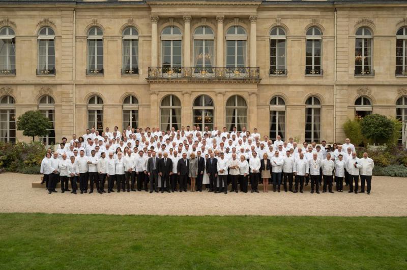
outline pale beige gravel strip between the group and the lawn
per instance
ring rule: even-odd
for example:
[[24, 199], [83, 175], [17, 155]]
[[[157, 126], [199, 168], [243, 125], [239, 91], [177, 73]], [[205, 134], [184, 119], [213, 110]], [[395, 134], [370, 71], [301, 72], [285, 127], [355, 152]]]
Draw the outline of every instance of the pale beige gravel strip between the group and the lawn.
[[[130, 192], [48, 195], [32, 188], [39, 175], [0, 174], [0, 212], [158, 215], [407, 215], [407, 178], [373, 177], [372, 192], [343, 193], [187, 193]], [[229, 185], [230, 189], [230, 185]]]

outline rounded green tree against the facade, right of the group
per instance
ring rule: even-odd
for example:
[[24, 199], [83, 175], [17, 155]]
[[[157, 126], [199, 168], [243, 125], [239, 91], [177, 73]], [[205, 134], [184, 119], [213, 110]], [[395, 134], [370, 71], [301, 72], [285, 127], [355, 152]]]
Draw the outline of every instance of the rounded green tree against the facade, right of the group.
[[393, 135], [394, 122], [384, 115], [365, 116], [360, 125], [363, 136], [372, 143], [387, 143]]

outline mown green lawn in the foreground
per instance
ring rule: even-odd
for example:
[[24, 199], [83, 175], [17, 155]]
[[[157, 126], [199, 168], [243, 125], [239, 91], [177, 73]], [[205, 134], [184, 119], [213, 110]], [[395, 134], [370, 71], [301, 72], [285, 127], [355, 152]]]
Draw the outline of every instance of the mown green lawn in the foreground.
[[13, 268], [406, 269], [407, 217], [0, 214]]

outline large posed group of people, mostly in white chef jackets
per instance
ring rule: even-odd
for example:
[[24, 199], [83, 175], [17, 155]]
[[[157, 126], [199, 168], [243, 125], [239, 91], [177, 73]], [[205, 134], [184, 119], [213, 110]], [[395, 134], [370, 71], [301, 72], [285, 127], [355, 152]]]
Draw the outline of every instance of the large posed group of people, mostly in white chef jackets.
[[[274, 139], [274, 138], [273, 138]], [[273, 192], [303, 193], [311, 185], [311, 193], [343, 192], [343, 182], [349, 193], [371, 191], [373, 160], [363, 153], [356, 155], [355, 146], [346, 139], [344, 144], [321, 145], [315, 142], [299, 144], [293, 138], [271, 140], [261, 137], [254, 128], [228, 132], [226, 127], [213, 130], [186, 126], [181, 130], [161, 131], [159, 128], [131, 128], [113, 131], [106, 127], [99, 133], [95, 128], [72, 139], [62, 138], [54, 151], [48, 151], [41, 163], [42, 183], [48, 194], [61, 191], [77, 194], [111, 192], [191, 192], [208, 190], [214, 193], [258, 193], [272, 184]], [[361, 186], [359, 191], [359, 177]], [[107, 188], [105, 184], [107, 181]], [[69, 182], [72, 191], [69, 190]], [[320, 187], [321, 186], [321, 187]]]

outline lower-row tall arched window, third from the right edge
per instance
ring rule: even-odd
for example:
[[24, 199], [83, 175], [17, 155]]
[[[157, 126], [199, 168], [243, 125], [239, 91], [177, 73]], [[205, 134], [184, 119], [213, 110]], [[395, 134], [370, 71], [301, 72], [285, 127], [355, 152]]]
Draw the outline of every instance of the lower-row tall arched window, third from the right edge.
[[321, 140], [321, 101], [317, 97], [309, 97], [305, 101], [305, 141]]

